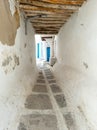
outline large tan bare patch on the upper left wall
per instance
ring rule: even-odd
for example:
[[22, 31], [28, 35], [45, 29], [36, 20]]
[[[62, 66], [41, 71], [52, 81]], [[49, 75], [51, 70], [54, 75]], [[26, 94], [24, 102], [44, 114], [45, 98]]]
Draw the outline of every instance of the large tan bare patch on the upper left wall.
[[20, 25], [19, 13], [16, 7], [12, 16], [12, 12], [8, 0], [0, 1], [0, 41], [3, 44], [13, 45], [15, 43], [15, 37], [17, 28]]

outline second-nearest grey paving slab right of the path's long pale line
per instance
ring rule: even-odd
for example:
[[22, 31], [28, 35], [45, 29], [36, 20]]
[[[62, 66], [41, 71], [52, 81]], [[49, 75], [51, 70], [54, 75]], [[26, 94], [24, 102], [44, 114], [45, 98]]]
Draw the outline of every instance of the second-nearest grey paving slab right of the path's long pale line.
[[65, 100], [65, 96], [63, 94], [56, 95], [54, 97], [55, 97], [59, 107], [66, 107], [66, 100]]

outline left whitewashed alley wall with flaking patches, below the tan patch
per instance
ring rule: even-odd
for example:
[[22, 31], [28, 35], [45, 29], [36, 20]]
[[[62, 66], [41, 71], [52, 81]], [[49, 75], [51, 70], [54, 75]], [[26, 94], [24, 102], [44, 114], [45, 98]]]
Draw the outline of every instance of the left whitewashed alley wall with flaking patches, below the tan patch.
[[28, 23], [25, 35], [21, 17], [15, 44], [0, 42], [0, 130], [17, 130], [20, 116], [26, 114], [24, 103], [36, 75], [34, 30]]

